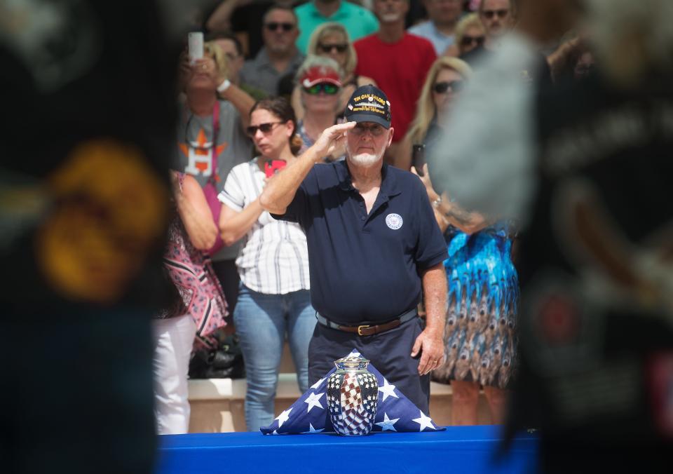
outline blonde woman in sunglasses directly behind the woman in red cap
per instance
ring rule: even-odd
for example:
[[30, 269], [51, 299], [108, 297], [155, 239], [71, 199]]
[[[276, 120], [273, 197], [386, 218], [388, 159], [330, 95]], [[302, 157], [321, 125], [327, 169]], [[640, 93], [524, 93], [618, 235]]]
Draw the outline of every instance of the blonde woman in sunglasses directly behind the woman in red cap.
[[[355, 74], [358, 54], [355, 53], [355, 48], [353, 48], [351, 37], [348, 36], [346, 28], [340, 23], [323, 23], [316, 28], [308, 40], [306, 54], [332, 58], [341, 67], [343, 77], [341, 79], [341, 93], [339, 93], [339, 115], [346, 109], [348, 98], [353, 95], [355, 89], [367, 84], [376, 86], [376, 81], [371, 77]], [[292, 92], [292, 107], [294, 107], [297, 118], [304, 118], [300, 84], [297, 84]]]

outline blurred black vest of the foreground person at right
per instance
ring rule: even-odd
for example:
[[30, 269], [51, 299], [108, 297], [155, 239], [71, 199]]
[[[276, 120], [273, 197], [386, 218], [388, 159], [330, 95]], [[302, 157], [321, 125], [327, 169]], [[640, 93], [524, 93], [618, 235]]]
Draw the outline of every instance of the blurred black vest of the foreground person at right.
[[669, 232], [659, 245], [670, 252], [672, 84], [653, 75], [617, 90], [595, 75], [542, 86], [536, 101], [538, 193], [519, 248], [521, 364], [506, 431], [539, 429], [543, 472], [670, 469], [670, 314], [638, 300], [605, 304], [587, 278], [606, 275], [597, 258], [605, 246], [578, 253], [564, 209], [591, 190], [618, 229], [609, 243], [632, 244], [627, 268], [657, 231]]

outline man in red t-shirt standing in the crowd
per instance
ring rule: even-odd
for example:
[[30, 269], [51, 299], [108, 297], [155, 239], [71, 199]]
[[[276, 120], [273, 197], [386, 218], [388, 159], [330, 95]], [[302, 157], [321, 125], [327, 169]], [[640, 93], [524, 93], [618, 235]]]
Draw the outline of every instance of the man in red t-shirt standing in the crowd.
[[437, 55], [433, 44], [405, 30], [408, 0], [374, 0], [374, 13], [379, 18], [379, 31], [355, 41], [358, 66], [355, 74], [374, 79], [386, 91], [393, 111], [393, 144], [386, 161], [395, 164], [397, 144], [407, 133], [414, 118], [416, 101], [421, 94], [428, 69]]

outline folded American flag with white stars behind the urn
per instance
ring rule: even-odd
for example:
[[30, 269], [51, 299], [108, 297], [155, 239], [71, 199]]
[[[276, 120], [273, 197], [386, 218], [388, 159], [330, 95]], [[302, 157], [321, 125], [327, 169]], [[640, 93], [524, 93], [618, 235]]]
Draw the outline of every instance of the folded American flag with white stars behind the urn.
[[[360, 356], [358, 351], [348, 355]], [[299, 400], [273, 420], [269, 426], [259, 430], [265, 435], [296, 435], [299, 433], [334, 433], [332, 420], [327, 409], [327, 379], [337, 370], [334, 367], [309, 388]], [[376, 376], [379, 383], [379, 405], [374, 419], [374, 431], [444, 431], [446, 428], [435, 425], [430, 417], [416, 408], [402, 392], [397, 390], [369, 364], [369, 372]]]

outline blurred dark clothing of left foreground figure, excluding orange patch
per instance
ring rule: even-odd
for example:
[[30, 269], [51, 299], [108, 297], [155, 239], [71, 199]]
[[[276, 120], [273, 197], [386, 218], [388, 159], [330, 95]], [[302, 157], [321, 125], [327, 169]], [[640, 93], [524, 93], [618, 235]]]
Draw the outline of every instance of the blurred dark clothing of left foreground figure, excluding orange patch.
[[[21, 5], [25, 18], [36, 18]], [[154, 1], [64, 1], [63, 23], [42, 50], [63, 71], [89, 29], [95, 57], [52, 86], [36, 81], [37, 55], [0, 43], [1, 173], [39, 183], [76, 144], [109, 137], [139, 147], [168, 189], [175, 138], [179, 44]], [[59, 29], [60, 28], [60, 29]], [[9, 32], [6, 32], [9, 33]], [[86, 61], [85, 61], [86, 63]], [[39, 67], [38, 67], [39, 66]], [[33, 71], [32, 69], [36, 69]], [[67, 75], [67, 74], [66, 74]], [[114, 169], [108, 170], [114, 176]], [[114, 178], [113, 178], [114, 179]], [[57, 203], [55, 204], [57, 205]], [[34, 226], [7, 247], [0, 304], [0, 463], [7, 473], [150, 473], [156, 448], [150, 318], [166, 294], [161, 245], [114, 304], [65, 299], [36, 267]]]

